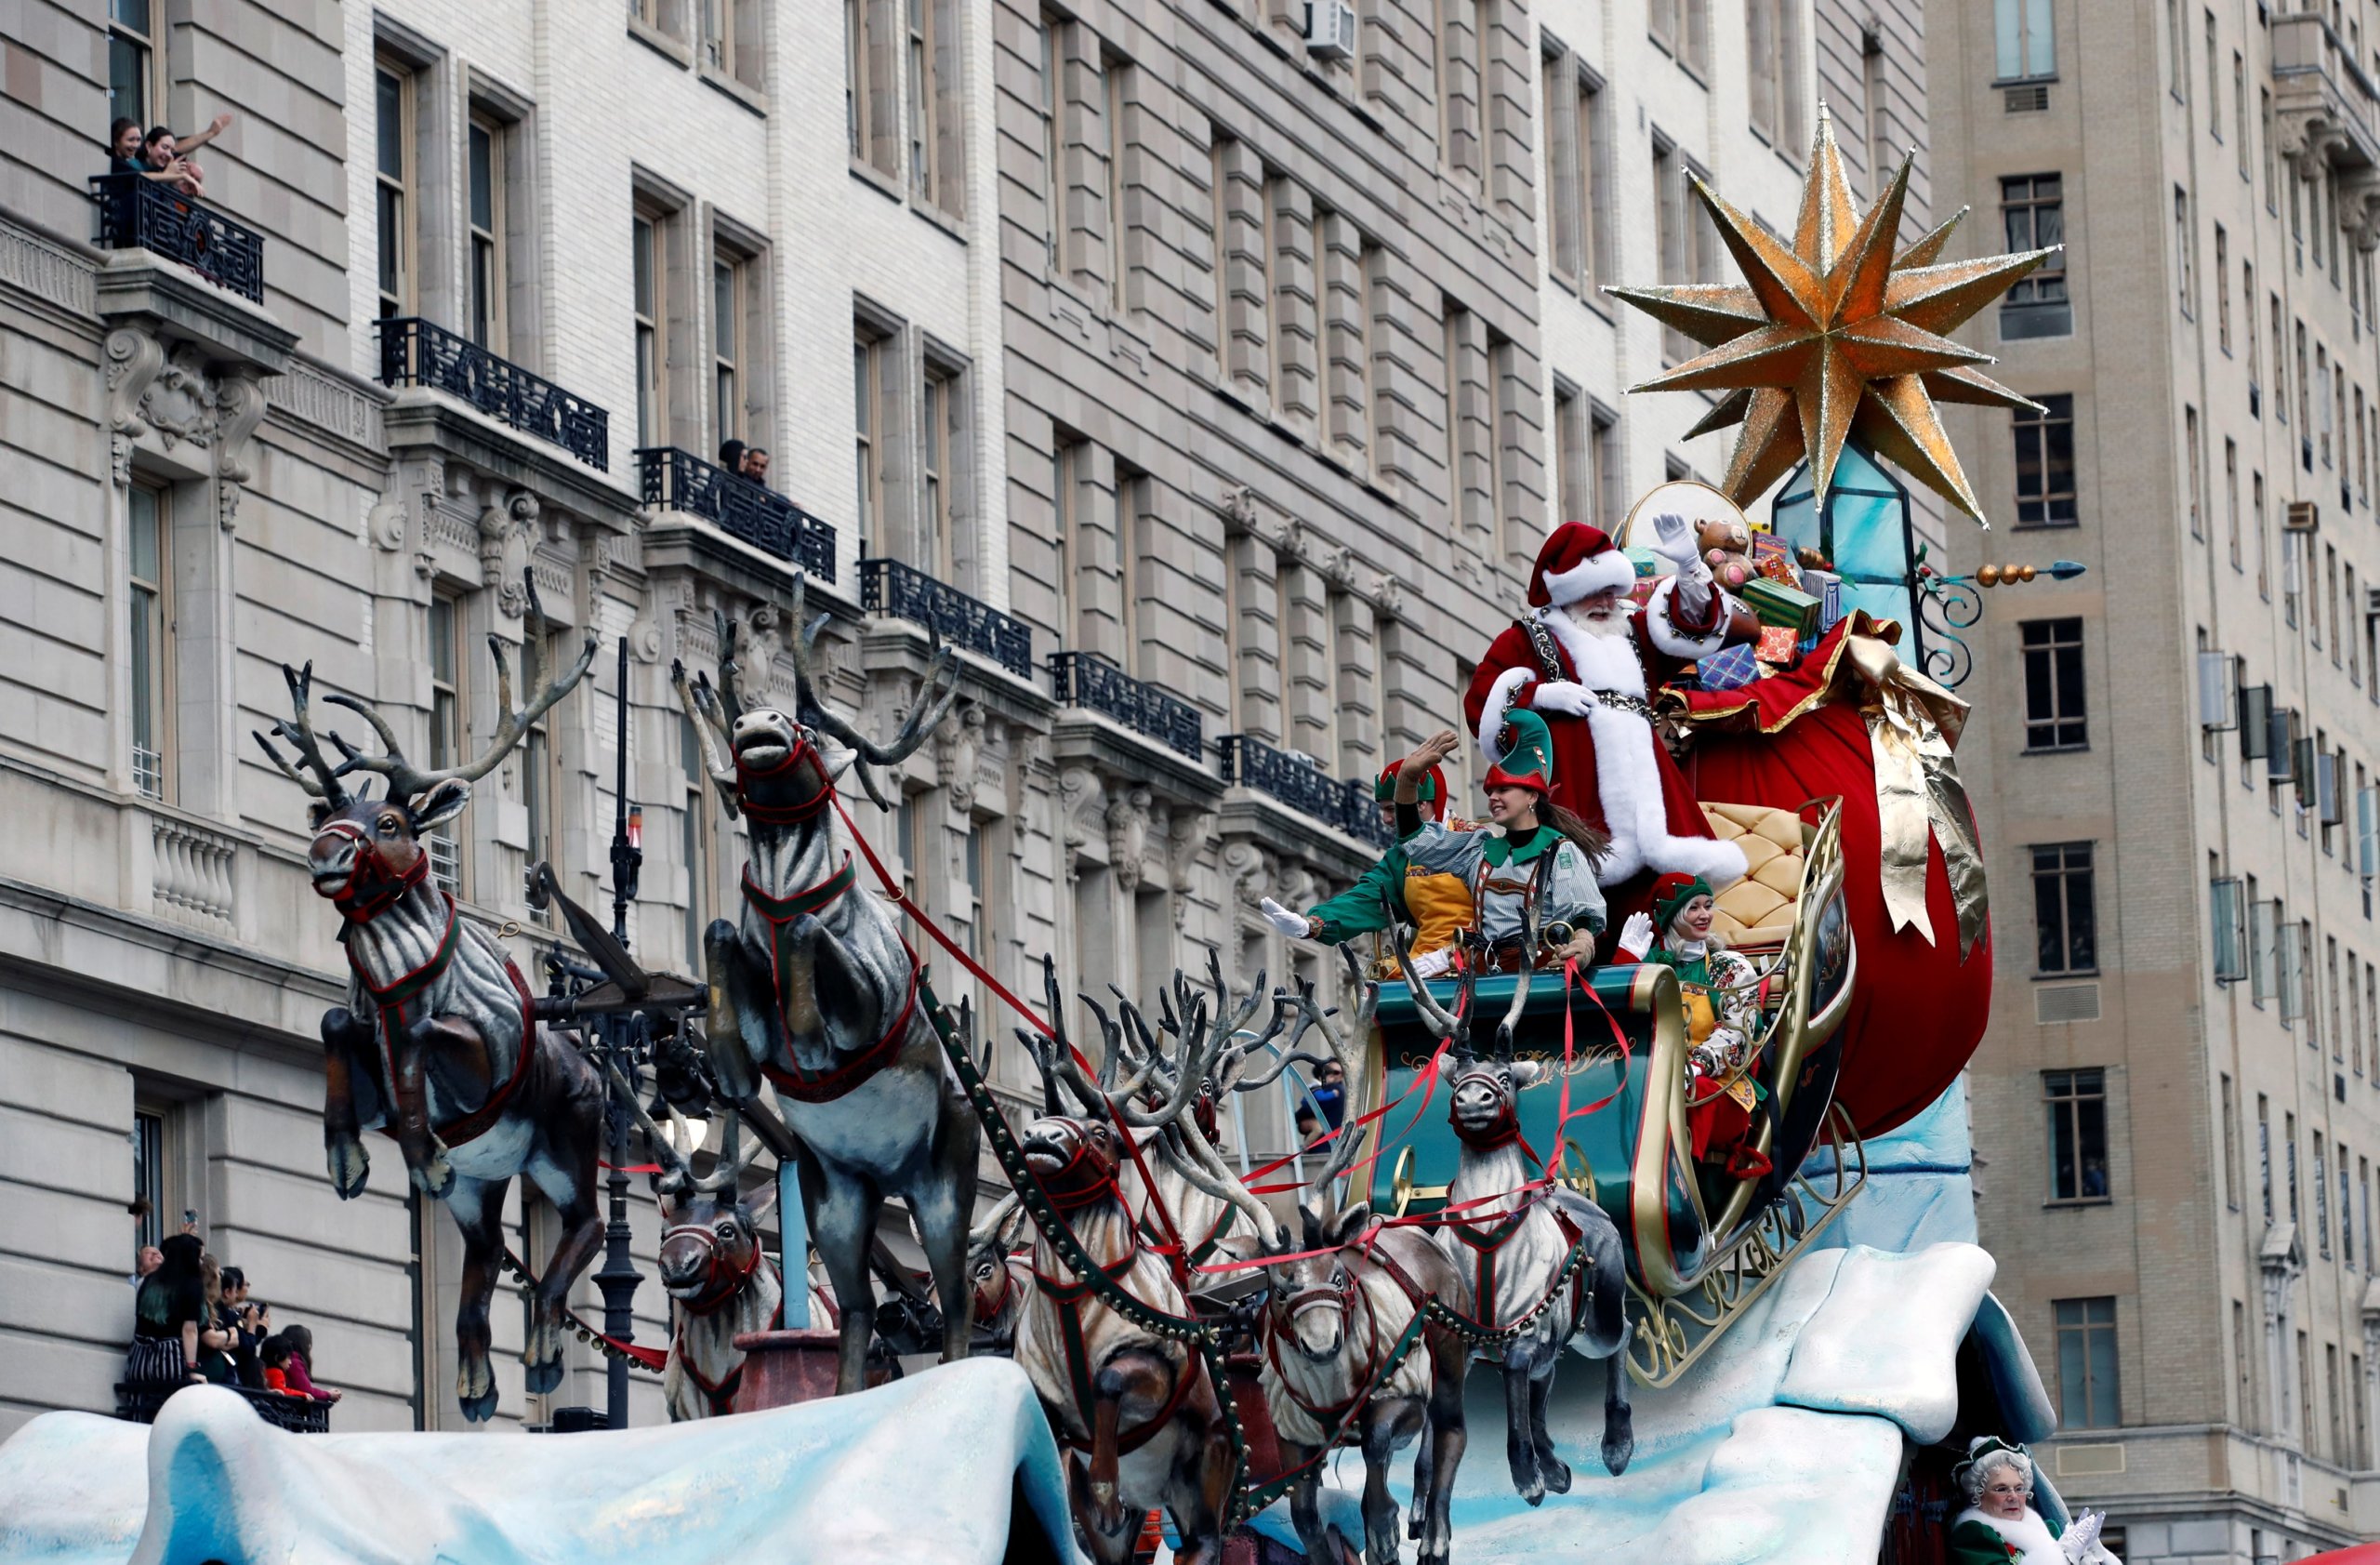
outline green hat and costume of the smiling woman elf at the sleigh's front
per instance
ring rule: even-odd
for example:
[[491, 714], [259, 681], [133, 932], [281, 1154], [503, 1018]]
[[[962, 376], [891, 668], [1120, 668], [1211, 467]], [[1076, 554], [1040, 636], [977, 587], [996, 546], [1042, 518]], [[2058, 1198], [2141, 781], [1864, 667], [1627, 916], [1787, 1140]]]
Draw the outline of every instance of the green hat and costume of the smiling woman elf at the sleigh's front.
[[[1488, 772], [1485, 786], [1528, 788], [1542, 810], [1542, 800], [1554, 793], [1554, 736], [1545, 719], [1511, 712], [1497, 750], [1502, 760]], [[1523, 915], [1533, 900], [1540, 931], [1557, 924], [1592, 934], [1604, 929], [1604, 893], [1595, 884], [1595, 865], [1559, 827], [1542, 819], [1528, 831], [1449, 831], [1442, 822], [1426, 819], [1402, 846], [1416, 869], [1452, 874], [1471, 889], [1478, 929], [1497, 953], [1497, 965], [1537, 958], [1521, 950]]]

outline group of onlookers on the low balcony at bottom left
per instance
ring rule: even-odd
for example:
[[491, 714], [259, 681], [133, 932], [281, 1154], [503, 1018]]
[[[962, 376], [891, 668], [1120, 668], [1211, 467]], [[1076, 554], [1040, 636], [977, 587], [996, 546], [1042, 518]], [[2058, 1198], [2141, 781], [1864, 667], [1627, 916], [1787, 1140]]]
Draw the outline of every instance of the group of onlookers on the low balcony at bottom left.
[[250, 1298], [240, 1267], [217, 1265], [195, 1224], [143, 1246], [133, 1286], [126, 1382], [207, 1382], [338, 1401], [338, 1391], [314, 1384], [314, 1334], [298, 1324], [274, 1329], [271, 1305]]

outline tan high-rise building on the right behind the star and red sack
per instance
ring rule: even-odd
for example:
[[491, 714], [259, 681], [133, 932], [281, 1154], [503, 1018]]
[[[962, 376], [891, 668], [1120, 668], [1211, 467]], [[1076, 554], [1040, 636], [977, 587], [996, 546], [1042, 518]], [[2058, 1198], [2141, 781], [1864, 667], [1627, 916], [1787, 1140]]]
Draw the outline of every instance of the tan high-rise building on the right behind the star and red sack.
[[2373, 7], [1937, 12], [1966, 252], [2063, 243], [1952, 426], [1994, 522], [1961, 769], [1994, 884], [1983, 1241], [2128, 1560], [2380, 1529]]

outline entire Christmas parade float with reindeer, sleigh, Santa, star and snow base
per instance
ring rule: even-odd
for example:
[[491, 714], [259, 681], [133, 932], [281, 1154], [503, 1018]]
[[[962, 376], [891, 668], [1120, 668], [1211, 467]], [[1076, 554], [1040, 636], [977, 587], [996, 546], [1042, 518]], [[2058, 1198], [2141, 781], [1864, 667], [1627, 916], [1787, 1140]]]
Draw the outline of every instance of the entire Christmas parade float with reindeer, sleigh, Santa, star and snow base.
[[[293, 672], [276, 762], [319, 800], [314, 881], [355, 953], [324, 1017], [333, 1184], [364, 1186], [383, 1131], [464, 1229], [457, 1398], [486, 1417], [493, 1274], [531, 1267], [478, 1224], [516, 1174], [566, 1215], [533, 1372], [569, 1332], [628, 1351], [562, 1305], [595, 1255], [612, 1103], [607, 1162], [633, 1120], [669, 1208], [674, 1422], [295, 1436], [207, 1389], [155, 1424], [45, 1415], [0, 1446], [0, 1560], [1964, 1558], [1959, 1482], [2013, 1484], [2009, 1448], [2054, 1417], [1966, 1184], [1959, 1072], [1992, 958], [1949, 688], [1971, 617], [1944, 610], [1964, 584], [1923, 562], [1883, 462], [1978, 512], [1935, 400], [2025, 403], [1944, 333], [2044, 252], [1944, 262], [1952, 224], [1902, 245], [1906, 179], [1861, 214], [1821, 117], [1790, 241], [1692, 186], [1742, 286], [1614, 291], [1706, 345], [1640, 391], [1716, 393], [1697, 431], [1742, 436], [1716, 488], [1664, 486], [1611, 534], [1566, 524], [1533, 612], [1483, 626], [1502, 650], [1464, 727], [1490, 786], [1533, 788], [1599, 858], [1554, 843], [1528, 867], [1521, 827], [1485, 834], [1507, 846], [1473, 846], [1476, 917], [1423, 955], [1414, 881], [1385, 879], [1357, 919], [1376, 950], [1349, 943], [1323, 984], [1233, 984], [1209, 955], [1081, 1012], [1054, 969], [1014, 996], [840, 803], [950, 712], [947, 653], [876, 743], [804, 674], [797, 579], [790, 688], [747, 679], [724, 626], [721, 667], [678, 672], [721, 808], [752, 827], [707, 984], [643, 972], [543, 874], [585, 965], [531, 996], [424, 884], [419, 838], [593, 648], [521, 712], [500, 667], [500, 743], [455, 774], [409, 767], [338, 696], [381, 748], [317, 734]], [[1780, 481], [1754, 526], [1742, 507]], [[1571, 600], [1618, 638], [1578, 641]], [[1383, 779], [1411, 831], [1397, 877], [1454, 836], [1418, 824], [1416, 760]], [[1587, 862], [1592, 917], [1552, 908]], [[633, 860], [614, 869], [626, 896]], [[928, 958], [992, 1005], [945, 1008]], [[992, 1048], [1033, 1060], [1038, 1112], [995, 1101]], [[1290, 1070], [1345, 1079], [1345, 1110], [1252, 1167], [1226, 1110]], [[707, 1170], [659, 1124], [676, 1108], [733, 1127]], [[969, 1198], [978, 1143], [997, 1203]], [[778, 1177], [754, 1198], [762, 1151]], [[885, 1196], [926, 1279], [878, 1253]], [[942, 1363], [881, 1384], [895, 1332]], [[1497, 1422], [1504, 1460], [1464, 1460]], [[2028, 1525], [2068, 1529], [2021, 1477]], [[2075, 1522], [2063, 1558], [2106, 1558], [2090, 1536]]]

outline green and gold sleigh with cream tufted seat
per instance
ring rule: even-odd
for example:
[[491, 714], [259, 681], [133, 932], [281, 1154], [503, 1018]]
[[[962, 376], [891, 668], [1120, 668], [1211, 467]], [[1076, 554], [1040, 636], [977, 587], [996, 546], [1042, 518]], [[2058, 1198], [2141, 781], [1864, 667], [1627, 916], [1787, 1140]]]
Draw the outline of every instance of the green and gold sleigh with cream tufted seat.
[[[1859, 984], [1842, 898], [1840, 803], [1706, 812], [1752, 865], [1721, 896], [1718, 934], [1761, 972], [1759, 1024], [1742, 1067], [1766, 1093], [1742, 1136], [1759, 1155], [1735, 1162], [1766, 1172], [1695, 1155], [1692, 1110], [1733, 1081], [1690, 1077], [1673, 969], [1597, 967], [1576, 986], [1559, 969], [1540, 969], [1514, 1034], [1514, 1053], [1547, 1067], [1518, 1096], [1523, 1141], [1621, 1227], [1637, 1327], [1630, 1372], [1647, 1386], [1676, 1382], [1864, 1179], [1859, 1136], [1835, 1108], [1840, 1024]], [[1518, 984], [1518, 974], [1483, 974], [1473, 1015], [1502, 1017]], [[1452, 1005], [1457, 984], [1440, 979], [1430, 993]], [[1445, 1205], [1461, 1148], [1445, 1105], [1430, 1101], [1438, 1036], [1402, 989], [1383, 991], [1371, 1048], [1366, 1108], [1390, 1105], [1378, 1120], [1373, 1210], [1433, 1212]]]

